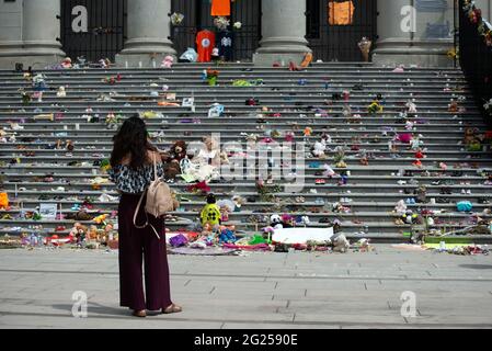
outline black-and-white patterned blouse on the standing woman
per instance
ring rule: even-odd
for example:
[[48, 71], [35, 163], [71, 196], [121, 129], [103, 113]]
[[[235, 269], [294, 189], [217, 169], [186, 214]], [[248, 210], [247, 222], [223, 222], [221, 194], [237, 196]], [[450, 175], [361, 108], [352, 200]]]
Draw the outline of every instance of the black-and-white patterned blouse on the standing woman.
[[[128, 194], [141, 194], [153, 180], [153, 165], [145, 165], [138, 169], [118, 165], [110, 169], [107, 173], [118, 191]], [[163, 174], [164, 166], [158, 163], [157, 177], [162, 177]]]

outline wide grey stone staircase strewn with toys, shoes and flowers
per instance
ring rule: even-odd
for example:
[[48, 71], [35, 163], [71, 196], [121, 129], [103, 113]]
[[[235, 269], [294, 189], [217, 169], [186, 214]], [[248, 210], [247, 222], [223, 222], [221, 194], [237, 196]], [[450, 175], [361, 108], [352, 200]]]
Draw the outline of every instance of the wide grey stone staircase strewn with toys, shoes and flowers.
[[[491, 197], [491, 186], [487, 185], [479, 170], [492, 170], [492, 157], [489, 150], [468, 152], [462, 145], [464, 131], [468, 126], [485, 131], [472, 97], [460, 70], [457, 69], [408, 69], [403, 73], [392, 72], [389, 68], [373, 67], [368, 64], [316, 64], [306, 71], [289, 72], [284, 68], [254, 67], [248, 64], [220, 66], [219, 84], [208, 87], [201, 80], [206, 65], [176, 65], [172, 70], [161, 69], [111, 69], [111, 70], [65, 70], [36, 71], [47, 77], [47, 84], [53, 90], [46, 91], [43, 102], [33, 100], [23, 104], [20, 88], [32, 90], [31, 82], [23, 79], [22, 73], [0, 71], [0, 124], [9, 133], [15, 133], [14, 143], [0, 144], [0, 162], [3, 191], [9, 194], [13, 204], [11, 211], [1, 211], [0, 234], [19, 235], [38, 231], [62, 235], [69, 231], [75, 220], [32, 220], [20, 217], [22, 210], [34, 211], [39, 203], [57, 203], [61, 205], [64, 215], [75, 213], [75, 204], [82, 204], [85, 197], [100, 214], [116, 210], [117, 196], [114, 185], [101, 184], [94, 189], [90, 183], [96, 177], [106, 178], [100, 162], [108, 158], [112, 149], [111, 138], [114, 131], [107, 129], [104, 120], [108, 113], [128, 116], [137, 111], [155, 111], [163, 118], [149, 118], [149, 132], [161, 149], [169, 149], [173, 141], [197, 141], [204, 136], [220, 133], [221, 143], [239, 141], [247, 149], [243, 134], [256, 134], [260, 138], [264, 131], [285, 133], [295, 131], [295, 140], [305, 139], [302, 131], [306, 126], [313, 129], [308, 143], [320, 139], [322, 132], [332, 137], [331, 149], [337, 146], [353, 146], [353, 137], [361, 137], [359, 149], [371, 154], [369, 165], [359, 162], [361, 150], [346, 152], [346, 169], [337, 169], [333, 162], [333, 152], [327, 159], [309, 157], [306, 150], [302, 169], [288, 166], [289, 172], [305, 173], [302, 194], [284, 191], [275, 194], [283, 203], [275, 208], [272, 203], [247, 202], [240, 212], [229, 215], [229, 224], [236, 224], [243, 233], [255, 231], [265, 224], [249, 220], [252, 215], [270, 216], [273, 213], [289, 213], [296, 216], [308, 215], [310, 227], [323, 227], [321, 218], [340, 219], [342, 231], [350, 238], [369, 237], [380, 241], [407, 240], [403, 233], [409, 233], [409, 225], [396, 225], [396, 214], [391, 211], [399, 200], [414, 197], [404, 190], [415, 190], [420, 185], [427, 189], [427, 199], [447, 197], [449, 203], [410, 204], [413, 211], [442, 211], [433, 217], [433, 228], [449, 231], [469, 225], [470, 214], [456, 212], [456, 203], [469, 200], [473, 203], [473, 212], [482, 213], [489, 207], [479, 203], [479, 197]], [[104, 78], [121, 73], [122, 80], [115, 84], [103, 82]], [[262, 79], [263, 84], [256, 87], [232, 87], [236, 79]], [[362, 90], [353, 89], [362, 84]], [[66, 86], [67, 97], [58, 98], [56, 90]], [[194, 97], [196, 110], [183, 106], [158, 106], [162, 98], [152, 97], [152, 91], [163, 94], [162, 86], [168, 86], [168, 93], [176, 93], [176, 99]], [[455, 90], [459, 87], [461, 90]], [[445, 91], [445, 88], [449, 88]], [[350, 106], [353, 114], [362, 116], [361, 123], [347, 123], [342, 115], [344, 101], [333, 100], [334, 93], [351, 91]], [[384, 112], [375, 115], [367, 113], [367, 105], [380, 93], [384, 97]], [[156, 93], [153, 93], [156, 94]], [[104, 95], [104, 99], [102, 99]], [[459, 106], [466, 112], [450, 113], [450, 99], [460, 101]], [[145, 98], [145, 99], [144, 99]], [[248, 106], [245, 100], [259, 99], [258, 106]], [[415, 99], [417, 116], [414, 134], [423, 136], [426, 158], [422, 159], [423, 168], [412, 165], [414, 151], [399, 145], [398, 156], [391, 156], [388, 141], [394, 133], [403, 133], [404, 124], [399, 122], [399, 112], [404, 110], [409, 99]], [[462, 98], [461, 98], [462, 99]], [[104, 101], [106, 100], [106, 101]], [[107, 101], [110, 100], [110, 101]], [[325, 101], [331, 101], [330, 105]], [[225, 115], [207, 117], [213, 103], [224, 104]], [[87, 113], [88, 107], [92, 113]], [[258, 114], [262, 106], [271, 109], [270, 113], [281, 116]], [[317, 116], [313, 107], [328, 112], [328, 116]], [[54, 114], [54, 121], [36, 120], [39, 114]], [[83, 115], [99, 115], [100, 122], [88, 122]], [[18, 123], [16, 131], [8, 131], [10, 123]], [[54, 149], [57, 140], [70, 139], [75, 149]], [[283, 141], [284, 138], [278, 138]], [[16, 159], [16, 160], [15, 160]], [[230, 158], [232, 163], [247, 168], [242, 160]], [[281, 160], [274, 157], [274, 167]], [[443, 172], [439, 163], [448, 166]], [[293, 161], [293, 165], [295, 162]], [[323, 165], [330, 165], [336, 172], [348, 171], [346, 185], [339, 185], [339, 179], [328, 180], [324, 184], [316, 184], [321, 179]], [[250, 169], [250, 171], [254, 171]], [[407, 174], [411, 171], [413, 174]], [[425, 172], [427, 171], [427, 172]], [[53, 176], [50, 176], [53, 174]], [[52, 179], [47, 180], [47, 177]], [[439, 181], [437, 184], [436, 181]], [[403, 184], [405, 182], [405, 184]], [[286, 180], [275, 184], [288, 183]], [[181, 211], [173, 213], [174, 222], [168, 222], [171, 228], [185, 228], [194, 220], [203, 204], [204, 197], [186, 193], [188, 184], [176, 182], [174, 189], [187, 199], [182, 202]], [[234, 181], [211, 182], [210, 188], [218, 199], [230, 199], [238, 194], [243, 197], [258, 195], [255, 181], [243, 179]], [[451, 194], [439, 194], [443, 186], [451, 190]], [[287, 188], [286, 188], [287, 189]], [[465, 191], [465, 193], [462, 193]], [[467, 193], [470, 191], [470, 193]], [[106, 193], [110, 197], [99, 197]], [[304, 196], [304, 203], [295, 199]], [[343, 202], [350, 213], [334, 213], [331, 204]], [[22, 207], [22, 208], [20, 208]], [[282, 211], [278, 211], [282, 210]], [[443, 211], [444, 210], [444, 211]], [[489, 219], [489, 216], [481, 215]], [[88, 222], [87, 224], [91, 224]], [[42, 226], [42, 229], [38, 227]], [[55, 231], [65, 226], [66, 230]], [[58, 228], [62, 229], [62, 228]], [[361, 234], [363, 231], [363, 234]], [[477, 241], [490, 241], [491, 236], [472, 236]]]

